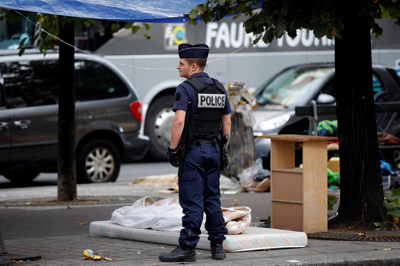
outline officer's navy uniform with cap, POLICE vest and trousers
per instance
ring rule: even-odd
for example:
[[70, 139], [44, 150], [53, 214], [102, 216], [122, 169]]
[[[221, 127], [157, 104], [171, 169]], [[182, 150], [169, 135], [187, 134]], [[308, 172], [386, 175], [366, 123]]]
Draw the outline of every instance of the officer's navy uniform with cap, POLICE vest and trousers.
[[[205, 44], [180, 44], [180, 58], [207, 58]], [[187, 103], [190, 101], [190, 110]], [[183, 110], [189, 115], [189, 150], [178, 177], [179, 204], [183, 209], [179, 245], [194, 248], [199, 240], [203, 212], [208, 240], [220, 245], [225, 240], [219, 192], [221, 116], [231, 112], [226, 90], [206, 73], [192, 74], [176, 87], [173, 111]], [[187, 126], [187, 125], [185, 125]]]

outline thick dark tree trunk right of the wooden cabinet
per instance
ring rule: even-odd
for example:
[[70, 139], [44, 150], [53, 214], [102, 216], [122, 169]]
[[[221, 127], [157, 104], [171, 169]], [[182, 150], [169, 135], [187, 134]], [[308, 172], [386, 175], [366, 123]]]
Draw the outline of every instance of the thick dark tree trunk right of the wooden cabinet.
[[[361, 6], [361, 3], [353, 3]], [[335, 88], [340, 147], [339, 223], [371, 227], [384, 208], [372, 91], [370, 17], [344, 13], [335, 37]]]

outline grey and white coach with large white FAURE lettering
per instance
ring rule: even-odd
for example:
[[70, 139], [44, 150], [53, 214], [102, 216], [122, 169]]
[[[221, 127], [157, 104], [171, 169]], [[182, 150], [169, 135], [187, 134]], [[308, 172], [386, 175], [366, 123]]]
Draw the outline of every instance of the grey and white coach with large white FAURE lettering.
[[[140, 31], [132, 35], [121, 29], [95, 52], [119, 63], [146, 68], [174, 68], [178, 62], [180, 43], [206, 43], [210, 47], [205, 67], [211, 77], [226, 85], [233, 80], [244, 81], [247, 88], [258, 87], [279, 70], [293, 64], [334, 61], [334, 42], [316, 39], [311, 31], [298, 30], [297, 37], [285, 34], [272, 43], [259, 41], [250, 46], [252, 34], [242, 27], [244, 19], [225, 18], [220, 22], [188, 24], [151, 24], [146, 40]], [[400, 33], [392, 20], [382, 20], [383, 35], [371, 38], [372, 62], [394, 65], [400, 58]], [[144, 33], [144, 32], [143, 32]], [[244, 48], [234, 52], [240, 47]], [[214, 61], [215, 59], [221, 58]], [[183, 81], [176, 69], [146, 70], [117, 66], [128, 76], [142, 101], [144, 123], [142, 133], [150, 137], [149, 153], [164, 159], [169, 143], [173, 118], [171, 106], [176, 86]]]

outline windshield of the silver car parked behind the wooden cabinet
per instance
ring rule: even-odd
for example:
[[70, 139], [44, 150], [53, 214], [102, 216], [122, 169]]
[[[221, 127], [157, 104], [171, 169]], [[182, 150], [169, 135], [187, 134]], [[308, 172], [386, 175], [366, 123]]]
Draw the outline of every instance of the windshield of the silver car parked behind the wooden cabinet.
[[284, 107], [302, 104], [333, 69], [327, 66], [286, 69], [258, 89], [257, 103]]

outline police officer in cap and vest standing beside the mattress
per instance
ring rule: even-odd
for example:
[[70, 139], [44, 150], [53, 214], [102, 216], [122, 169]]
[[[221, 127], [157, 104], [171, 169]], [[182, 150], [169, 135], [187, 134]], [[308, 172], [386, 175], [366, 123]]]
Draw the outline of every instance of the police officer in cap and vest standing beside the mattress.
[[167, 152], [169, 162], [178, 167], [178, 142], [186, 115], [189, 115], [190, 148], [184, 156], [183, 166], [180, 166], [183, 167], [182, 174], [178, 177], [179, 204], [184, 214], [179, 247], [169, 253], [161, 253], [158, 258], [161, 262], [195, 262], [194, 249], [201, 233], [203, 212], [212, 259], [225, 258], [222, 241], [227, 230], [220, 208], [219, 170], [226, 169], [229, 162], [227, 158], [220, 161], [218, 142], [221, 135], [230, 135], [231, 109], [223, 85], [203, 72], [208, 50], [205, 44], [183, 43], [178, 46], [180, 59], [176, 68], [179, 76], [186, 80], [177, 86], [175, 92], [172, 108], [175, 116]]

